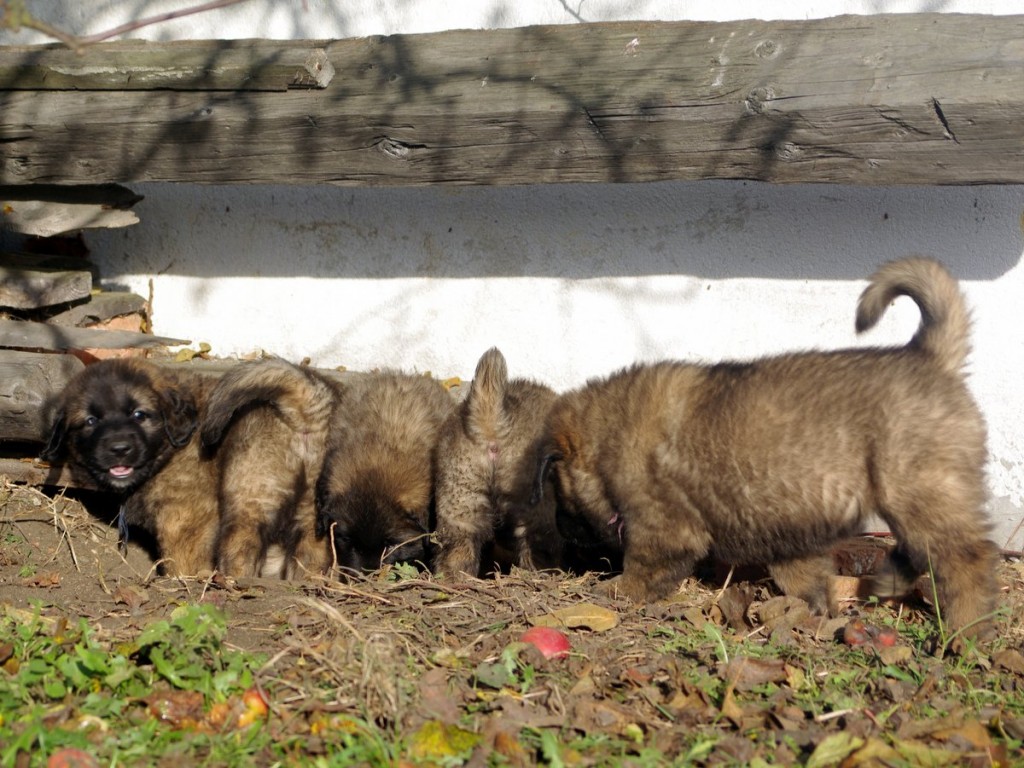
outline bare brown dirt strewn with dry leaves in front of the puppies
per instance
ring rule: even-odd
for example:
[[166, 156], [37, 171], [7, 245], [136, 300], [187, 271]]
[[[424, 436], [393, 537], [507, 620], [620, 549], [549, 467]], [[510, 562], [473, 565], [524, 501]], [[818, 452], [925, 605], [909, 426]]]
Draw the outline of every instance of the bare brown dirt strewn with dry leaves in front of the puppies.
[[[726, 586], [722, 573], [646, 607], [607, 597], [591, 574], [165, 579], [144, 542], [119, 552], [109, 500], [86, 504], [0, 479], [0, 610], [38, 604], [44, 614], [84, 616], [117, 642], [182, 602], [214, 603], [230, 646], [264, 654], [259, 679], [280, 727], [294, 732], [301, 720], [310, 754], [325, 749], [308, 728], [314, 714], [348, 713], [399, 737], [425, 723], [458, 724], [480, 739], [468, 758], [475, 765], [555, 764], [543, 748], [547, 729], [575, 743], [562, 764], [640, 764], [650, 754], [804, 762], [838, 733], [902, 756], [844, 765], [949, 762], [907, 762], [905, 744], [930, 751], [929, 760], [1024, 764], [1024, 565], [1014, 558], [1001, 564], [996, 650], [951, 668], [930, 652], [935, 622], [925, 601], [852, 603], [823, 620], [767, 580], [734, 575]], [[568, 658], [510, 646], [549, 614], [568, 625]], [[896, 627], [895, 647], [844, 644], [856, 617]]]

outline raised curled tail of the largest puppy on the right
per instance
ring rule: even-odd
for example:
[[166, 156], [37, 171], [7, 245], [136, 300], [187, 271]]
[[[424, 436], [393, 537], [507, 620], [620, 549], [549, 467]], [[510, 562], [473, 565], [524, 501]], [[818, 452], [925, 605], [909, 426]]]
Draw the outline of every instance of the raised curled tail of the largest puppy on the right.
[[921, 326], [909, 346], [957, 373], [971, 349], [971, 317], [956, 281], [938, 261], [923, 256], [884, 264], [860, 295], [857, 333], [872, 328], [897, 296], [909, 296], [921, 310]]

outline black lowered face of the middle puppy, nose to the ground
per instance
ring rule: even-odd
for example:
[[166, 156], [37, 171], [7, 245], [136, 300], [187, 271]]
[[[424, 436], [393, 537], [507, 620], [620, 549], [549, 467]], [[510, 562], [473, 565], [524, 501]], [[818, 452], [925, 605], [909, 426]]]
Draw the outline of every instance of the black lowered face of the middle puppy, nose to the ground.
[[369, 490], [318, 495], [317, 531], [334, 536], [338, 565], [347, 571], [429, 561], [429, 537], [416, 516], [393, 500]]

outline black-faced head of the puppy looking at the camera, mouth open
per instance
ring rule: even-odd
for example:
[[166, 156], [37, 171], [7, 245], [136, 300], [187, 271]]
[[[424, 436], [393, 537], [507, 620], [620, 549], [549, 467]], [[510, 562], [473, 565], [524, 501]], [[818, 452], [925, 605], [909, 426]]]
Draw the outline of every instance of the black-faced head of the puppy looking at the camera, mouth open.
[[86, 369], [69, 384], [56, 410], [43, 458], [67, 453], [74, 469], [120, 494], [159, 472], [195, 428], [190, 403], [173, 389], [161, 391], [140, 366], [120, 360]]

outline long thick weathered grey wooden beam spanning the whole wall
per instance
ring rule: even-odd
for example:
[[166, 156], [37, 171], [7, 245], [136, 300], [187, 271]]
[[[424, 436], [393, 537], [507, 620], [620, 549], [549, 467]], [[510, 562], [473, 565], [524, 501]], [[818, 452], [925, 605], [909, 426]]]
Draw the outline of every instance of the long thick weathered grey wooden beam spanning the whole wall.
[[[219, 44], [208, 45], [214, 67]], [[337, 75], [316, 91], [0, 92], [0, 182], [1024, 183], [1024, 15], [589, 24], [324, 46]]]

